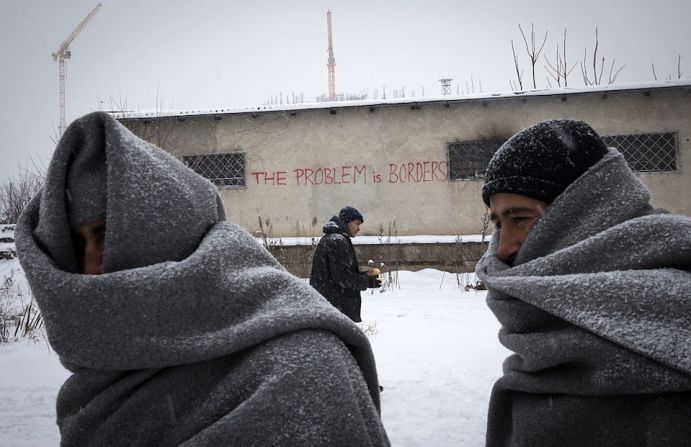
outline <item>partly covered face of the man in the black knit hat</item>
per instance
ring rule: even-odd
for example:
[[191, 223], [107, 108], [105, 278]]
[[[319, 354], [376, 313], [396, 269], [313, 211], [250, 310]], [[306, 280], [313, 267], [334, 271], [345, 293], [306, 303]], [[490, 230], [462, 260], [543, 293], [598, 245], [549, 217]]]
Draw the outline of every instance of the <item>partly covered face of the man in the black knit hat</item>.
[[489, 198], [490, 218], [499, 233], [497, 256], [507, 264], [521, 249], [533, 225], [545, 212], [547, 204], [532, 197], [501, 192]]

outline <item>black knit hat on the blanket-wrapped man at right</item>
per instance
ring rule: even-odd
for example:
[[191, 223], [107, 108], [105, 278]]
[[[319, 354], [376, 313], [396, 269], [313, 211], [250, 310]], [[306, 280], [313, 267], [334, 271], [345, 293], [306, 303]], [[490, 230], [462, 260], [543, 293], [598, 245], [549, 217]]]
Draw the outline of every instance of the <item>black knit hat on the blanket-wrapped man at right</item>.
[[482, 200], [508, 192], [552, 203], [607, 153], [607, 146], [588, 124], [574, 120], [544, 121], [511, 137], [487, 167]]

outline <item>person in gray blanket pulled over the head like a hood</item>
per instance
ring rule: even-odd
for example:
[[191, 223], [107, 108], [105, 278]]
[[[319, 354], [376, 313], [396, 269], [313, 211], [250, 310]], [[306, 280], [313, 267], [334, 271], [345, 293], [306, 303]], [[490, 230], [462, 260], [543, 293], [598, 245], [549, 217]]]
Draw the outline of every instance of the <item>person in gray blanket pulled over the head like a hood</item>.
[[362, 331], [110, 115], [67, 129], [16, 232], [72, 372], [62, 445], [389, 445]]

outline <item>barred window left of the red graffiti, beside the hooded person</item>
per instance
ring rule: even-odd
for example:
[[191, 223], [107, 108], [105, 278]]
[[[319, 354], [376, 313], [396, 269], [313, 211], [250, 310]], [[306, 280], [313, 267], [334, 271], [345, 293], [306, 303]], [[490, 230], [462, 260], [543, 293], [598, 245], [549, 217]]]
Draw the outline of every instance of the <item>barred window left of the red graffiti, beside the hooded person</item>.
[[245, 186], [245, 154], [243, 152], [186, 155], [182, 157], [182, 161], [219, 188]]

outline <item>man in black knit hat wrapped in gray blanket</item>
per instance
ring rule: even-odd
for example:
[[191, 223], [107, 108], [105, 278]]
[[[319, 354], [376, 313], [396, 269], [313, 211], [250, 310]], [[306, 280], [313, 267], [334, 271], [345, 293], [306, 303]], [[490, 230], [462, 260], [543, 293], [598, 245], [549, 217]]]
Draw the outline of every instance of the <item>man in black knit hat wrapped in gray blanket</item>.
[[691, 445], [691, 219], [572, 120], [504, 143], [482, 198], [476, 273], [513, 351], [487, 446]]

